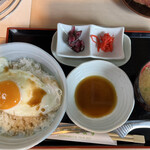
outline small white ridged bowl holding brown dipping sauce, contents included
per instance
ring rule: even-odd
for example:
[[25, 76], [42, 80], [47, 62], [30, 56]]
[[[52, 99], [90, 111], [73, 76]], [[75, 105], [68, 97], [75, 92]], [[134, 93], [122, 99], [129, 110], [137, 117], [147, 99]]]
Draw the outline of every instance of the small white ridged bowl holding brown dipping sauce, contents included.
[[126, 73], [114, 64], [93, 60], [67, 77], [69, 118], [79, 127], [110, 132], [125, 123], [134, 107], [134, 92]]

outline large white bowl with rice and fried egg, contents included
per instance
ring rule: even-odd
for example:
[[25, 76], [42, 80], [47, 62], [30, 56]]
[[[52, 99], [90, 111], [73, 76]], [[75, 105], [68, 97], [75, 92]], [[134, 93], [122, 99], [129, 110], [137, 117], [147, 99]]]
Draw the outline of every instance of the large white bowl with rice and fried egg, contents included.
[[[66, 111], [66, 78], [47, 52], [16, 42], [0, 46], [0, 90], [5, 91], [3, 85], [9, 84], [16, 84], [20, 95], [17, 97], [17, 88], [11, 86], [8, 93], [0, 92], [0, 149], [29, 149], [61, 122]], [[18, 103], [5, 105], [9, 94], [16, 96]]]

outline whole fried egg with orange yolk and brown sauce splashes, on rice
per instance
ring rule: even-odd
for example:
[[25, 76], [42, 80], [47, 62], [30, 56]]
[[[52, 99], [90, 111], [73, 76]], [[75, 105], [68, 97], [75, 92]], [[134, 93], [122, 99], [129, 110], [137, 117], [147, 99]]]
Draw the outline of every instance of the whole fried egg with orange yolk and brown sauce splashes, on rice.
[[5, 58], [0, 58], [0, 64], [0, 110], [15, 116], [40, 116], [60, 106], [59, 87], [43, 83], [29, 71], [9, 69]]

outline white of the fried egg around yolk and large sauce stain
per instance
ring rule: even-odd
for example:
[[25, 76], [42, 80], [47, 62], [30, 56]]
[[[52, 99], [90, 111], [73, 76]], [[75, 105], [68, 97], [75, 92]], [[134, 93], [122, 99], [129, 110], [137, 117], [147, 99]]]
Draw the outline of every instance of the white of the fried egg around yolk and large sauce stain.
[[[3, 63], [0, 69], [4, 68], [5, 64], [7, 65], [6, 62]], [[60, 105], [60, 95], [57, 93], [58, 87], [51, 86], [50, 83], [48, 83], [48, 85], [43, 83], [30, 72], [19, 69], [9, 69], [7, 72], [0, 72], [0, 82], [5, 80], [14, 81], [18, 85], [21, 93], [21, 100], [15, 107], [3, 110], [8, 114], [15, 116], [39, 116], [55, 111]], [[46, 94], [43, 96], [39, 105], [31, 107], [28, 102], [33, 96], [32, 94], [35, 87], [43, 89]]]

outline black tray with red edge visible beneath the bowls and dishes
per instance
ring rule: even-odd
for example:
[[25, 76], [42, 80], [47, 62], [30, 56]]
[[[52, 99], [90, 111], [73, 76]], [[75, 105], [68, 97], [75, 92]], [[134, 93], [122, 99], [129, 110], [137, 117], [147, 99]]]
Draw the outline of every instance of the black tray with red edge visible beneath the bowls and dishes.
[[[29, 29], [29, 28], [8, 28], [7, 31], [7, 42], [27, 42], [37, 45], [51, 53], [51, 40], [56, 30], [51, 29]], [[120, 68], [123, 69], [129, 76], [131, 82], [134, 85], [135, 79], [141, 67], [150, 60], [150, 32], [145, 31], [126, 31], [131, 38], [132, 54], [130, 60]], [[53, 56], [53, 55], [52, 55]], [[65, 75], [74, 68], [59, 63], [64, 70]], [[150, 119], [150, 112], [146, 112], [137, 103], [135, 98], [135, 108], [129, 118], [130, 120], [137, 119]], [[68, 116], [65, 114], [62, 122], [71, 122]], [[145, 135], [146, 143], [144, 146], [150, 146], [150, 129], [136, 129], [130, 134]], [[136, 143], [118, 142], [120, 146], [142, 146]], [[101, 146], [98, 144], [80, 143], [80, 142], [67, 142], [67, 141], [56, 141], [56, 140], [45, 140], [37, 146]]]

